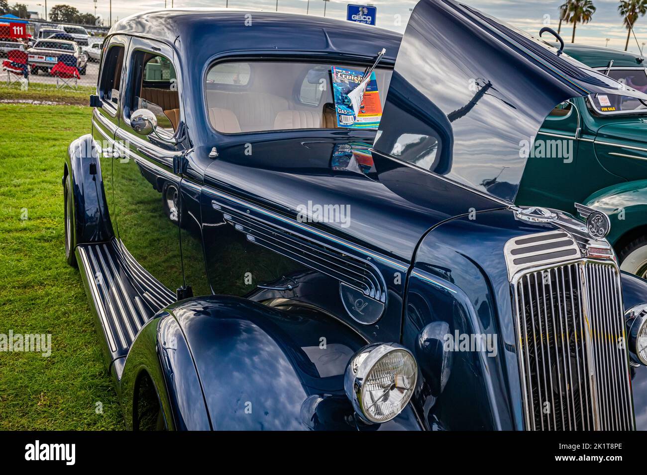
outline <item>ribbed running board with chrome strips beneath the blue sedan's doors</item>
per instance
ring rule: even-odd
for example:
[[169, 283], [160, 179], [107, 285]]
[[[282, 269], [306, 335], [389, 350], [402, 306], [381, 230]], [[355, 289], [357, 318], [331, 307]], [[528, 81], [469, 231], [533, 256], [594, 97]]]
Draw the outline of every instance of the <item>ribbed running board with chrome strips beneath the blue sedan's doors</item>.
[[142, 268], [115, 239], [80, 244], [76, 247], [76, 258], [114, 361], [128, 353], [139, 330], [157, 311], [175, 302], [175, 294]]

